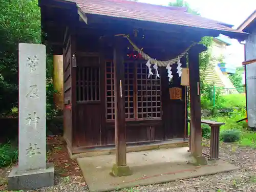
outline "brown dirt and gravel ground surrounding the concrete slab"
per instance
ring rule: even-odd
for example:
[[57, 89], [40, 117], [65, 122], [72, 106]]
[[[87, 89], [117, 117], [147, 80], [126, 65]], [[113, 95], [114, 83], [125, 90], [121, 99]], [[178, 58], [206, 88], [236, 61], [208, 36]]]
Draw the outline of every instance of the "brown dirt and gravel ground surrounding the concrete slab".
[[[209, 150], [209, 141], [203, 142], [204, 152]], [[65, 144], [60, 137], [48, 137], [48, 161], [55, 164], [55, 185], [33, 191], [89, 191], [75, 160], [71, 160]], [[240, 147], [237, 144], [221, 143], [221, 158], [236, 164], [241, 169], [206, 177], [191, 178], [163, 184], [140, 186], [118, 191], [216, 191], [216, 192], [256, 192], [256, 150]], [[6, 176], [10, 167], [0, 169], [0, 191], [7, 187]], [[32, 190], [31, 190], [32, 191]]]

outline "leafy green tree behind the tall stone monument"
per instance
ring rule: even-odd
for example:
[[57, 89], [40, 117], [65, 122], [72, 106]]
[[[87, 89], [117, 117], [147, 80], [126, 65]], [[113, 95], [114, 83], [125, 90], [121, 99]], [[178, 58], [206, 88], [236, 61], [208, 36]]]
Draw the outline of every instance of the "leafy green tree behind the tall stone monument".
[[40, 42], [37, 0], [0, 0], [0, 114], [18, 103], [18, 44]]

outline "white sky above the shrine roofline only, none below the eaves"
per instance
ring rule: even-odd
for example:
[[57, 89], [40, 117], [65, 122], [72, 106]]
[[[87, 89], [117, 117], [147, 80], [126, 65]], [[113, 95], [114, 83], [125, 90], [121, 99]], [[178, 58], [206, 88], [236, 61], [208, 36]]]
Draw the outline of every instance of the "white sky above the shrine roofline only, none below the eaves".
[[[139, 2], [168, 5], [174, 0], [139, 0]], [[187, 0], [204, 17], [238, 27], [255, 9], [256, 0]]]

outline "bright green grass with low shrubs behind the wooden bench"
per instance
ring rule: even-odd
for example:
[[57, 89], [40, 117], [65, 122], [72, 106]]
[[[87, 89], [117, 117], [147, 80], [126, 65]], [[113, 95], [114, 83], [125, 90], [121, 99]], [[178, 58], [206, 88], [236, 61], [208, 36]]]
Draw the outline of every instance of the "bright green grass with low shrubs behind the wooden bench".
[[[212, 105], [210, 105], [211, 101], [207, 101], [205, 98], [202, 98], [201, 101], [203, 102], [201, 103], [202, 107], [208, 106], [208, 108], [203, 109], [212, 109]], [[246, 121], [241, 121], [237, 123], [238, 120], [246, 117], [245, 101], [245, 94], [219, 95], [218, 99], [216, 100], [216, 106], [214, 109], [216, 109], [217, 111], [231, 110], [232, 112], [226, 114], [212, 113], [212, 115], [207, 119], [225, 123], [220, 128], [221, 138], [224, 142], [237, 142], [240, 146], [249, 146], [252, 148], [256, 148], [256, 132], [248, 131], [248, 124], [246, 123]], [[235, 132], [237, 133], [237, 135], [233, 134]], [[240, 139], [238, 137], [238, 133], [240, 133]], [[202, 136], [204, 138], [209, 137], [209, 130], [203, 124]]]

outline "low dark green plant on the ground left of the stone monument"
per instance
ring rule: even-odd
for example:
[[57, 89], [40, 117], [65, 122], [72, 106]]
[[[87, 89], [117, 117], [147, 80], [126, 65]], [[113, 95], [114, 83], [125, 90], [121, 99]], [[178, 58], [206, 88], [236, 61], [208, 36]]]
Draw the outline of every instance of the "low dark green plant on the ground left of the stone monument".
[[18, 150], [10, 143], [0, 144], [0, 167], [8, 166], [18, 159]]

